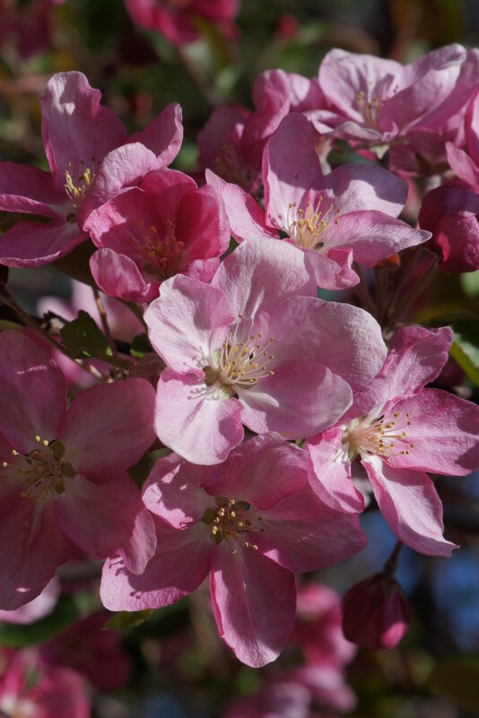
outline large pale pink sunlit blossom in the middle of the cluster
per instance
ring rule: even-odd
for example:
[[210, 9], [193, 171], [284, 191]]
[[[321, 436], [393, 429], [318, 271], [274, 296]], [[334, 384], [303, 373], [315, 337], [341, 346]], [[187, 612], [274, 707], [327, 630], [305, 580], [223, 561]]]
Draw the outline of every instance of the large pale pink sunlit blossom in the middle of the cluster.
[[249, 239], [211, 285], [177, 275], [144, 314], [168, 365], [157, 388], [161, 441], [193, 463], [222, 462], [243, 438], [315, 434], [335, 423], [382, 365], [379, 324], [316, 298], [305, 255]]

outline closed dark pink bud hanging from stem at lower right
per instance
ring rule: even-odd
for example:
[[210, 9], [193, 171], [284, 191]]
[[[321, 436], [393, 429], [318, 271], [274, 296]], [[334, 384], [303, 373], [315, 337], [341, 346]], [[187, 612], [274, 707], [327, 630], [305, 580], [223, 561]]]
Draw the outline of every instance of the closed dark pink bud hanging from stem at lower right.
[[344, 595], [344, 636], [379, 650], [394, 648], [409, 626], [409, 607], [401, 586], [385, 574], [373, 575]]

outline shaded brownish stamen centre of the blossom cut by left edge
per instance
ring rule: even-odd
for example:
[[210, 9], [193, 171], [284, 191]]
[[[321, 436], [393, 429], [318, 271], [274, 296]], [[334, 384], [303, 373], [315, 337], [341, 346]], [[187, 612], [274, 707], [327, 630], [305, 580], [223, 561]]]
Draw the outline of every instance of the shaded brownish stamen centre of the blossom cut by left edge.
[[36, 501], [57, 497], [65, 491], [65, 478], [75, 475], [74, 467], [66, 463], [62, 456], [65, 446], [60, 441], [48, 442], [38, 435], [35, 441], [39, 448], [30, 454], [21, 454], [12, 449], [14, 463], [4, 461], [1, 464], [7, 483], [20, 481], [27, 484], [21, 493], [22, 498], [34, 498]]

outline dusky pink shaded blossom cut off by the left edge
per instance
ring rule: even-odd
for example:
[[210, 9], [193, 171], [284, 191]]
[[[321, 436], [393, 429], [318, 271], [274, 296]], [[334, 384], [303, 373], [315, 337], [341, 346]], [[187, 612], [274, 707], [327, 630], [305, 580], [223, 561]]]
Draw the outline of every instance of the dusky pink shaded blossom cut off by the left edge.
[[154, 530], [126, 469], [152, 444], [152, 386], [94, 386], [66, 411], [65, 378], [36, 343], [3, 332], [0, 357], [2, 609], [35, 598], [75, 545], [143, 571]]

